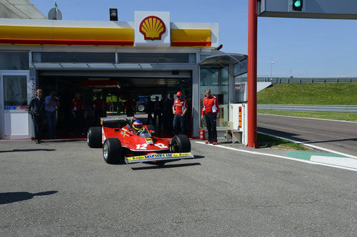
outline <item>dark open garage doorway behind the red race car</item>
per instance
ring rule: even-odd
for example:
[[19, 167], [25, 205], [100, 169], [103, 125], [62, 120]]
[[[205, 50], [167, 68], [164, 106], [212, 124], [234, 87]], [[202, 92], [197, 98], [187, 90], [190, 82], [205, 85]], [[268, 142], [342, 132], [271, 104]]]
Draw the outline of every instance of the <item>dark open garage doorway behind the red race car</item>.
[[[129, 107], [133, 107], [135, 117], [156, 126], [159, 135], [173, 137], [172, 102], [178, 91], [188, 102], [186, 135], [191, 136], [191, 70], [39, 70], [39, 88], [44, 90], [44, 96], [55, 92], [58, 98], [57, 138], [84, 138], [89, 127], [99, 126], [101, 116], [96, 110], [99, 107], [97, 98], [103, 100], [104, 116], [130, 115]], [[84, 102], [84, 117], [80, 125], [71, 112], [71, 101], [78, 93]], [[49, 137], [47, 125], [44, 125], [43, 137]]]

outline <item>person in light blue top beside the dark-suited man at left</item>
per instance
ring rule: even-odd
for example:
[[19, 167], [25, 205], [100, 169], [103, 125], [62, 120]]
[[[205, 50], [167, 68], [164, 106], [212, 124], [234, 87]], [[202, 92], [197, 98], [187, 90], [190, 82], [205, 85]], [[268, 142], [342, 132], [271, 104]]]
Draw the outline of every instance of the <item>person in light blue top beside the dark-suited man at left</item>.
[[45, 97], [46, 123], [49, 139], [56, 138], [56, 107], [59, 106], [58, 98], [53, 91]]

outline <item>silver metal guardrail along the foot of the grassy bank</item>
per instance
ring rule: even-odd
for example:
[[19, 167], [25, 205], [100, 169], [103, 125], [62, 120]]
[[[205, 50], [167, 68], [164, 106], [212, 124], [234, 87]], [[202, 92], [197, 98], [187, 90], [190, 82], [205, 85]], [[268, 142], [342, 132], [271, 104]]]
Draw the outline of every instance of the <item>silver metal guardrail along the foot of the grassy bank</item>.
[[357, 105], [276, 105], [258, 104], [258, 110], [283, 110], [303, 112], [357, 112]]

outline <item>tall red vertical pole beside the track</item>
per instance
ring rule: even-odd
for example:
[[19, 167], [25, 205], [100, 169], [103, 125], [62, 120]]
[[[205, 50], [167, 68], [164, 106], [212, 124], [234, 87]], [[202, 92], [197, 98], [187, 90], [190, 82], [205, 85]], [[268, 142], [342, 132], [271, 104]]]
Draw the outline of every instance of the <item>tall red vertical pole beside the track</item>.
[[256, 140], [256, 38], [258, 6], [257, 0], [248, 0], [248, 144], [258, 148]]

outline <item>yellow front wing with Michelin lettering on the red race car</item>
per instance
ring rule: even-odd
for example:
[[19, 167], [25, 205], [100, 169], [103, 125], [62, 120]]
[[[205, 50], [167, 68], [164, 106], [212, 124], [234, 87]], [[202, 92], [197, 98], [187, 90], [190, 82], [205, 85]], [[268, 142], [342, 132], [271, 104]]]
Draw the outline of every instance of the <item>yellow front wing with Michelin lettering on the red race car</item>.
[[156, 162], [156, 161], [172, 161], [175, 159], [193, 159], [190, 152], [185, 153], [166, 153], [166, 154], [146, 154], [137, 157], [126, 157], [126, 164], [138, 162]]

